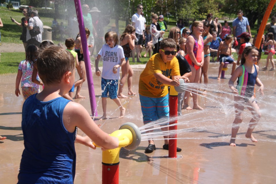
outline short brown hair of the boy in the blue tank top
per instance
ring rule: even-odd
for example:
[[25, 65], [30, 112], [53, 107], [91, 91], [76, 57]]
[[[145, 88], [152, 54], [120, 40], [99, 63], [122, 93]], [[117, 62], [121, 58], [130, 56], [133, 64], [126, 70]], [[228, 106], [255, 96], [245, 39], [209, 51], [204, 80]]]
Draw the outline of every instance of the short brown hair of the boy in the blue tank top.
[[74, 70], [75, 58], [62, 47], [49, 46], [37, 52], [36, 64], [43, 83], [60, 83], [65, 72]]

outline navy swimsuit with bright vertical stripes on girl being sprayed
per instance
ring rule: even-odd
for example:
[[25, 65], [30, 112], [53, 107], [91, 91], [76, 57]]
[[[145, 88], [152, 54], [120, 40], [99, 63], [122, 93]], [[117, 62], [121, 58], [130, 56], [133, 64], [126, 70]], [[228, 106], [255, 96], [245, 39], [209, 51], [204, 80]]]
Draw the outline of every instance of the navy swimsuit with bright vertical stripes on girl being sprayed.
[[256, 78], [258, 75], [256, 66], [253, 65], [255, 68], [255, 71], [252, 74], [246, 71], [244, 65], [241, 65], [241, 66], [242, 66], [243, 73], [238, 78], [237, 90], [239, 91], [239, 95], [252, 97], [254, 95], [254, 87], [255, 87]]

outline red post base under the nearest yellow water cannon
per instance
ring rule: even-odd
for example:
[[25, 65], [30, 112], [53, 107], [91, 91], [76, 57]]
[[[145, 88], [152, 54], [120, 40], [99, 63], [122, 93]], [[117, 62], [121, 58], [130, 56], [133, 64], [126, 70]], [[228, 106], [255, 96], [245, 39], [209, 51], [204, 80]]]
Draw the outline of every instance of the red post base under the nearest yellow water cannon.
[[105, 164], [102, 167], [102, 184], [119, 184], [119, 162]]

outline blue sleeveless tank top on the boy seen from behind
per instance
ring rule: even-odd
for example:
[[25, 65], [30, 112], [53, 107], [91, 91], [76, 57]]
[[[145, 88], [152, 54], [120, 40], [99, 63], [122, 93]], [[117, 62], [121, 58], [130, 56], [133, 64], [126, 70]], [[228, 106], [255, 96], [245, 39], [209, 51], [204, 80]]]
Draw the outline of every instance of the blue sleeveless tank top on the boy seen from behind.
[[24, 151], [18, 183], [73, 183], [76, 170], [74, 141], [77, 128], [68, 132], [62, 114], [69, 100], [39, 101], [34, 94], [23, 104]]

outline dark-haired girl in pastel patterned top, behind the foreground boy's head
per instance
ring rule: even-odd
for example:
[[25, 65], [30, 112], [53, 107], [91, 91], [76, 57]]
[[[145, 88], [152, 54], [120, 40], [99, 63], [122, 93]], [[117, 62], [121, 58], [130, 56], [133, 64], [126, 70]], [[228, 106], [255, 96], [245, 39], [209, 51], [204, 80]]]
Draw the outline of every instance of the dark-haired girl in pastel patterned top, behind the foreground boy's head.
[[[15, 83], [15, 95], [20, 95], [19, 84], [21, 80], [22, 95], [26, 100], [30, 95], [39, 93], [39, 85], [32, 82], [32, 72], [34, 68], [35, 52], [37, 46], [29, 45], [26, 49], [26, 59], [21, 61], [18, 66], [18, 72]], [[39, 82], [39, 77], [36, 74], [36, 81]]]

